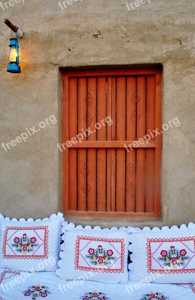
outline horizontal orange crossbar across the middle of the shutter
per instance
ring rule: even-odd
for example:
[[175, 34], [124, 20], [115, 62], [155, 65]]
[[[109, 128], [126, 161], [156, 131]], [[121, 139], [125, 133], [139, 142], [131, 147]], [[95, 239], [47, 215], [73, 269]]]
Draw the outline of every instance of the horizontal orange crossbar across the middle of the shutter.
[[[134, 142], [135, 145], [133, 144]], [[70, 148], [125, 148], [125, 144], [128, 145], [128, 148], [131, 150], [131, 148], [154, 148], [156, 147], [156, 141], [143, 141], [143, 143], [138, 143], [137, 140], [113, 140], [113, 141], [85, 141], [83, 140], [81, 143], [75, 142], [74, 144], [70, 145]]]

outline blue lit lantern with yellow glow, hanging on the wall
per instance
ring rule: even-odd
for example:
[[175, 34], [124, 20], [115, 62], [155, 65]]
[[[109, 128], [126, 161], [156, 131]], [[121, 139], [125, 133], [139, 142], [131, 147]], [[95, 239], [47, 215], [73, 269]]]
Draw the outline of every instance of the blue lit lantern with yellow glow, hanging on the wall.
[[12, 37], [10, 38], [10, 53], [9, 53], [9, 63], [7, 66], [7, 72], [10, 73], [21, 73], [19, 66], [19, 46], [18, 46], [18, 38]]

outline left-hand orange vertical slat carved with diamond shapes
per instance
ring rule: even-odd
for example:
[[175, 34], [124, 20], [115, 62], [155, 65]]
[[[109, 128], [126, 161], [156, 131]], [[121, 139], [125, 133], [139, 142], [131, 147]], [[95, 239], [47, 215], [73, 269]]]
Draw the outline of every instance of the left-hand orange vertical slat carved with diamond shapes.
[[[90, 133], [87, 140], [96, 140], [96, 77], [88, 78], [88, 129], [90, 128], [93, 133]], [[88, 167], [88, 195], [87, 195], [87, 210], [96, 210], [96, 149], [88, 148], [87, 167]]]

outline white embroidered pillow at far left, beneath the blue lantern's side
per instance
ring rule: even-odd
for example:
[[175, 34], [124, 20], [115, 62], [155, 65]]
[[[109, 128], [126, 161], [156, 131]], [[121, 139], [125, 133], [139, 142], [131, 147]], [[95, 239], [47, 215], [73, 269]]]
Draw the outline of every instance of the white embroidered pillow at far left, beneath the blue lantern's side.
[[55, 271], [59, 260], [63, 214], [42, 220], [10, 220], [0, 215], [0, 267]]

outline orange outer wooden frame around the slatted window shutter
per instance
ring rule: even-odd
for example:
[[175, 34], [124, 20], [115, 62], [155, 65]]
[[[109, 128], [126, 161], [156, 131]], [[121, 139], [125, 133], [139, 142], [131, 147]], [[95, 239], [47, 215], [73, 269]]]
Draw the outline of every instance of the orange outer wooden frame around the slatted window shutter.
[[[62, 143], [68, 140], [69, 95], [68, 79], [75, 76], [98, 75], [155, 75], [156, 77], [156, 128], [162, 128], [162, 68], [161, 67], [128, 67], [128, 68], [97, 68], [97, 69], [67, 69], [62, 72]], [[129, 141], [126, 141], [129, 143]], [[121, 212], [121, 211], [83, 211], [69, 210], [69, 180], [68, 180], [68, 149], [62, 151], [62, 207], [67, 216], [92, 218], [157, 218], [161, 216], [161, 164], [162, 164], [162, 134], [156, 136], [155, 146], [155, 206], [154, 212]]]

